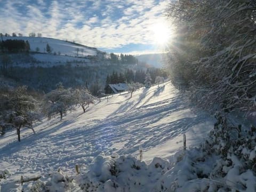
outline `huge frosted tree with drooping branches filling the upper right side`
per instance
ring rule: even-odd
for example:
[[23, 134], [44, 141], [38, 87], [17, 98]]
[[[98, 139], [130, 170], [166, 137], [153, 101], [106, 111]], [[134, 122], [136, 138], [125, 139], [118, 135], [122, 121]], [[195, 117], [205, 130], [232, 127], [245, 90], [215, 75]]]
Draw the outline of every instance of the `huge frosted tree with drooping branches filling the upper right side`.
[[255, 111], [256, 2], [173, 1], [167, 17], [177, 38], [171, 81], [193, 92], [202, 107]]

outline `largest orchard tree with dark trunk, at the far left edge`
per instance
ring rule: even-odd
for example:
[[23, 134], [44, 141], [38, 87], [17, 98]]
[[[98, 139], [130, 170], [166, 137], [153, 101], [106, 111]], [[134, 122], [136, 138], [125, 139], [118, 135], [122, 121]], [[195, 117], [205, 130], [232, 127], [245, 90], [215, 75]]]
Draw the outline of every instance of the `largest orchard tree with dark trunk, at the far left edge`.
[[26, 86], [7, 91], [0, 95], [2, 127], [14, 127], [20, 141], [21, 127], [28, 127], [35, 133], [33, 122], [39, 121], [38, 102], [27, 93]]

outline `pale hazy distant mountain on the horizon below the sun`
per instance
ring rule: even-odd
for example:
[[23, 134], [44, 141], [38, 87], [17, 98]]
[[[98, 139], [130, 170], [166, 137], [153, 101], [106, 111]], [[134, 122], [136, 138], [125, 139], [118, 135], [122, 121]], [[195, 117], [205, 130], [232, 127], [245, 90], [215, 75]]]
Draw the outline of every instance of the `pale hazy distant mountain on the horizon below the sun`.
[[166, 53], [143, 54], [135, 56], [140, 62], [145, 62], [155, 68], [163, 68], [167, 63]]

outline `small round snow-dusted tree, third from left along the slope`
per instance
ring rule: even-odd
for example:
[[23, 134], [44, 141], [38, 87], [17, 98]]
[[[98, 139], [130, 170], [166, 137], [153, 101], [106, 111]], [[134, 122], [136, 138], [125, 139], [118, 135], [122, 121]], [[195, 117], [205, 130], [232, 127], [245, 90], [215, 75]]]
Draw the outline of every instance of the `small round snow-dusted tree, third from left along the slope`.
[[95, 98], [86, 88], [84, 89], [75, 89], [74, 92], [75, 102], [78, 103], [85, 113], [86, 106], [89, 107], [90, 103], [94, 103]]

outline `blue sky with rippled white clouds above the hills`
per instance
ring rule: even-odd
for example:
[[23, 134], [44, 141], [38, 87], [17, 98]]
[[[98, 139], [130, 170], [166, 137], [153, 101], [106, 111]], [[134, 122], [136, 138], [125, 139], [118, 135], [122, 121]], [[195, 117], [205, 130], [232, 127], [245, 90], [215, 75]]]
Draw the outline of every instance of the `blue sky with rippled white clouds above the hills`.
[[23, 36], [42, 33], [43, 37], [67, 39], [115, 53], [161, 52], [167, 40], [166, 34], [161, 33], [169, 24], [164, 17], [168, 3], [0, 0], [0, 32]]

